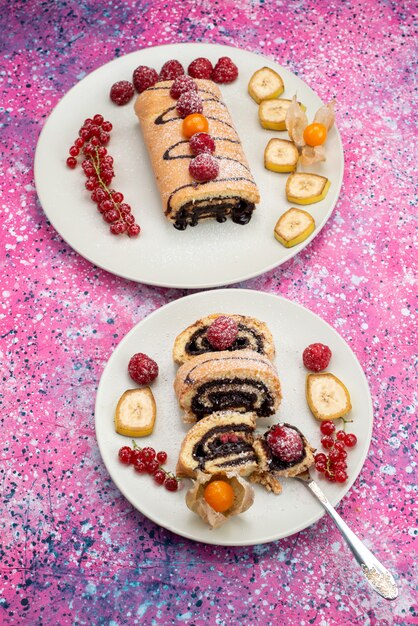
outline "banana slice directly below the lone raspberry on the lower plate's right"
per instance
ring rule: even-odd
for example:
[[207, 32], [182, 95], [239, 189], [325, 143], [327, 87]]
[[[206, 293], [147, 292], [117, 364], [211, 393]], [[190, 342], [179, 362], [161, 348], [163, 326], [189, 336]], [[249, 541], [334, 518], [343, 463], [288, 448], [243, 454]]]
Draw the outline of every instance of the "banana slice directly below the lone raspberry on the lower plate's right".
[[347, 387], [329, 372], [307, 375], [306, 400], [318, 420], [335, 420], [351, 411]]

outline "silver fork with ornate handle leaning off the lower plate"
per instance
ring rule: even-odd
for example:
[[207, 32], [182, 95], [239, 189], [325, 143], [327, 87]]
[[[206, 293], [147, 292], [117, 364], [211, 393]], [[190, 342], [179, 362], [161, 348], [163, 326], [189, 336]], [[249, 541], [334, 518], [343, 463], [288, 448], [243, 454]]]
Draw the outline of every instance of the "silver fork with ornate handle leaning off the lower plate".
[[324, 509], [330, 515], [332, 521], [347, 542], [348, 547], [360, 565], [369, 585], [386, 600], [395, 600], [398, 597], [398, 587], [392, 574], [376, 559], [376, 557], [366, 548], [360, 539], [347, 526], [344, 520], [338, 515], [334, 507], [329, 503], [325, 494], [318, 484], [312, 479], [308, 471], [295, 476], [302, 482], [319, 500]]

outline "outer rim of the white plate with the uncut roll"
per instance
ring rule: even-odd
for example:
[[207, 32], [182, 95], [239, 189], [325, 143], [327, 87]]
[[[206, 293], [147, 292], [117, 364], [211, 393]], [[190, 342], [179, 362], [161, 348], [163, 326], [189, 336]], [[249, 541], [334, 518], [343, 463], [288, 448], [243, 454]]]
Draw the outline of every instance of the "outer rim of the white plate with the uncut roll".
[[[250, 54], [250, 55], [255, 55], [255, 56], [259, 56], [260, 59], [265, 59], [267, 61], [270, 61], [271, 63], [273, 63], [275, 66], [282, 68], [283, 70], [285, 70], [286, 72], [288, 72], [289, 74], [292, 74], [293, 76], [295, 76], [298, 80], [302, 81], [304, 83], [304, 85], [315, 95], [316, 98], [318, 98], [321, 103], [323, 104], [323, 101], [321, 98], [319, 98], [318, 94], [312, 89], [312, 87], [306, 82], [305, 79], [300, 78], [297, 74], [295, 74], [295, 72], [293, 72], [292, 70], [288, 69], [287, 67], [281, 65], [280, 63], [278, 63], [274, 58], [271, 58], [270, 56], [266, 56], [265, 54], [262, 54], [258, 51], [254, 52], [252, 50], [247, 50], [245, 48], [241, 48], [239, 46], [233, 46], [233, 45], [226, 45], [226, 44], [218, 44], [218, 43], [207, 43], [207, 42], [180, 42], [180, 43], [171, 43], [171, 44], [163, 44], [160, 46], [145, 46], [143, 48], [139, 48], [138, 50], [134, 50], [132, 52], [128, 52], [127, 54], [124, 54], [120, 57], [116, 57], [114, 59], [111, 59], [110, 61], [107, 61], [106, 63], [100, 65], [99, 67], [96, 67], [94, 70], [92, 70], [91, 72], [86, 73], [85, 76], [83, 76], [82, 79], [80, 79], [79, 81], [77, 81], [72, 87], [70, 87], [70, 89], [68, 89], [68, 91], [66, 91], [64, 93], [64, 95], [59, 99], [59, 101], [54, 105], [54, 107], [52, 108], [52, 110], [50, 111], [49, 115], [47, 116], [47, 118], [45, 119], [45, 122], [42, 126], [42, 129], [39, 133], [38, 136], [38, 140], [36, 143], [36, 148], [35, 148], [35, 155], [34, 155], [34, 183], [35, 183], [35, 189], [36, 189], [36, 193], [37, 193], [37, 197], [39, 200], [39, 204], [42, 208], [42, 211], [45, 215], [45, 217], [47, 218], [47, 220], [51, 223], [51, 225], [53, 226], [54, 230], [58, 233], [58, 235], [61, 237], [61, 239], [72, 249], [74, 250], [78, 255], [80, 255], [83, 259], [87, 260], [89, 263], [91, 263], [92, 265], [94, 265], [95, 267], [100, 268], [101, 270], [108, 272], [109, 274], [112, 274], [114, 276], [118, 276], [119, 278], [124, 278], [125, 280], [131, 280], [135, 283], [140, 283], [140, 284], [144, 284], [144, 285], [150, 285], [150, 286], [154, 286], [154, 287], [161, 287], [161, 288], [166, 288], [166, 289], [199, 289], [199, 290], [206, 290], [206, 289], [213, 289], [213, 288], [221, 288], [224, 286], [228, 286], [228, 285], [234, 285], [236, 283], [241, 283], [244, 282], [246, 280], [251, 280], [253, 278], [256, 278], [258, 276], [262, 276], [263, 274], [266, 274], [267, 272], [270, 272], [273, 269], [279, 268], [282, 265], [284, 265], [285, 263], [287, 263], [288, 261], [290, 261], [292, 258], [294, 258], [295, 256], [297, 256], [299, 253], [301, 253], [307, 246], [309, 246], [311, 244], [312, 241], [314, 241], [314, 239], [319, 235], [319, 233], [321, 232], [321, 230], [324, 228], [324, 226], [328, 223], [328, 221], [330, 220], [337, 204], [338, 201], [340, 199], [341, 196], [341, 190], [343, 188], [343, 183], [344, 183], [344, 171], [345, 171], [345, 158], [344, 158], [344, 147], [343, 147], [343, 143], [342, 143], [342, 139], [341, 139], [341, 134], [340, 131], [338, 129], [337, 124], [334, 124], [334, 132], [336, 135], [336, 141], [337, 141], [337, 145], [338, 145], [338, 149], [341, 152], [341, 169], [339, 171], [339, 175], [338, 175], [338, 179], [337, 180], [333, 180], [332, 184], [333, 187], [337, 190], [336, 191], [336, 197], [335, 197], [335, 201], [333, 204], [330, 205], [330, 207], [328, 208], [326, 214], [324, 215], [324, 218], [322, 220], [322, 223], [320, 225], [317, 225], [314, 229], [314, 231], [312, 232], [312, 234], [307, 237], [307, 239], [303, 242], [301, 242], [300, 244], [298, 244], [297, 246], [291, 247], [287, 249], [287, 252], [284, 254], [283, 258], [281, 258], [279, 261], [273, 261], [268, 265], [265, 265], [262, 269], [255, 269], [251, 272], [244, 272], [242, 275], [237, 275], [234, 278], [230, 278], [227, 280], [222, 280], [222, 279], [216, 279], [216, 280], [208, 280], [205, 282], [199, 282], [198, 280], [194, 281], [193, 283], [191, 283], [191, 281], [186, 281], [186, 282], [181, 282], [181, 280], [176, 280], [176, 281], [164, 281], [164, 279], [162, 278], [161, 280], [153, 280], [153, 279], [147, 279], [146, 277], [141, 277], [138, 278], [137, 276], [134, 275], [134, 273], [130, 273], [129, 270], [128, 271], [115, 271], [114, 269], [110, 269], [108, 267], [105, 267], [103, 263], [98, 263], [97, 260], [95, 260], [94, 254], [90, 254], [89, 250], [87, 251], [80, 251], [80, 247], [77, 242], [75, 244], [70, 243], [70, 239], [71, 237], [68, 236], [64, 236], [60, 230], [58, 230], [55, 226], [55, 220], [53, 218], [53, 216], [51, 217], [50, 212], [47, 211], [44, 208], [44, 202], [42, 200], [42, 198], [44, 198], [44, 190], [42, 189], [42, 184], [41, 184], [41, 178], [42, 178], [42, 174], [41, 174], [41, 169], [42, 166], [40, 165], [40, 154], [41, 152], [44, 150], [43, 148], [43, 144], [46, 141], [45, 140], [45, 135], [47, 133], [47, 129], [48, 129], [48, 123], [49, 121], [52, 119], [54, 119], [54, 116], [57, 115], [57, 111], [59, 112], [59, 108], [62, 104], [62, 102], [67, 98], [70, 97], [71, 94], [73, 93], [74, 90], [78, 89], [80, 84], [83, 83], [83, 81], [85, 81], [86, 79], [90, 79], [92, 76], [94, 76], [96, 73], [103, 71], [103, 69], [105, 67], [107, 67], [108, 65], [112, 64], [112, 63], [117, 63], [119, 60], [127, 58], [127, 57], [133, 57], [135, 55], [137, 55], [138, 53], [145, 51], [145, 50], [163, 50], [163, 49], [173, 49], [176, 48], [178, 46], [181, 47], [190, 47], [190, 48], [210, 48], [210, 49], [215, 49], [218, 48], [219, 50], [228, 50], [228, 49], [232, 49], [232, 50], [238, 50], [239, 52], [242, 52], [244, 54]], [[47, 204], [47, 202], [45, 202], [45, 205]], [[279, 245], [279, 244], [278, 244]]]

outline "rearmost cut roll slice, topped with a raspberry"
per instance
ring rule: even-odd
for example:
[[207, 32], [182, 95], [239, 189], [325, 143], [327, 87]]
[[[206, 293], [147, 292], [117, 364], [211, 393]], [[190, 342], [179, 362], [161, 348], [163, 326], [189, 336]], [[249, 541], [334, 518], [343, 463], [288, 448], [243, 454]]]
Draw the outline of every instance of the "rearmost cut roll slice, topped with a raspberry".
[[254, 350], [259, 354], [265, 355], [271, 361], [274, 359], [273, 336], [264, 322], [248, 315], [213, 313], [197, 320], [176, 337], [173, 347], [175, 363], [182, 365], [199, 354], [215, 351], [207, 340], [206, 335], [209, 326], [220, 315], [231, 317], [238, 325], [237, 338], [232, 346], [228, 348], [228, 351]]

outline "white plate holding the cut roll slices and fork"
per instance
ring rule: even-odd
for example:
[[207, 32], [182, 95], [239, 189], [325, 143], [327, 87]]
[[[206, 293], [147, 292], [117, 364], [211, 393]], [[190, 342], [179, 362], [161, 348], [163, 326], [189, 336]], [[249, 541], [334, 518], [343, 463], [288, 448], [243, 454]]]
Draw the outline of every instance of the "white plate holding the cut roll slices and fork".
[[[168, 453], [167, 467], [174, 470], [180, 444], [187, 432], [173, 391], [176, 367], [171, 350], [175, 337], [196, 319], [215, 312], [241, 313], [265, 321], [275, 339], [276, 365], [283, 387], [283, 401], [275, 417], [259, 420], [264, 429], [277, 421], [286, 421], [301, 429], [308, 440], [320, 446], [319, 422], [306, 405], [306, 370], [301, 363], [303, 349], [310, 343], [327, 344], [333, 353], [329, 370], [347, 385], [353, 405], [349, 432], [355, 432], [358, 444], [348, 453], [349, 481], [336, 485], [319, 479], [325, 494], [336, 504], [358, 476], [370, 444], [372, 432], [372, 402], [366, 378], [351, 349], [338, 333], [311, 311], [279, 298], [245, 289], [224, 289], [197, 293], [172, 302], [137, 324], [120, 342], [103, 372], [96, 400], [96, 434], [104, 463], [116, 486], [137, 508], [160, 526], [178, 535], [219, 545], [253, 545], [273, 541], [306, 528], [318, 520], [324, 511], [307, 489], [297, 480], [283, 481], [280, 496], [267, 493], [256, 486], [254, 505], [244, 514], [229, 520], [217, 530], [210, 530], [190, 512], [184, 502], [186, 488], [169, 493], [154, 485], [149, 476], [135, 473], [117, 458], [121, 446], [130, 439], [114, 430], [113, 415], [121, 394], [134, 388], [127, 373], [130, 357], [145, 352], [155, 358], [159, 377], [152, 385], [157, 403], [154, 432], [140, 445], [150, 445]], [[315, 472], [314, 472], [315, 473]]]

